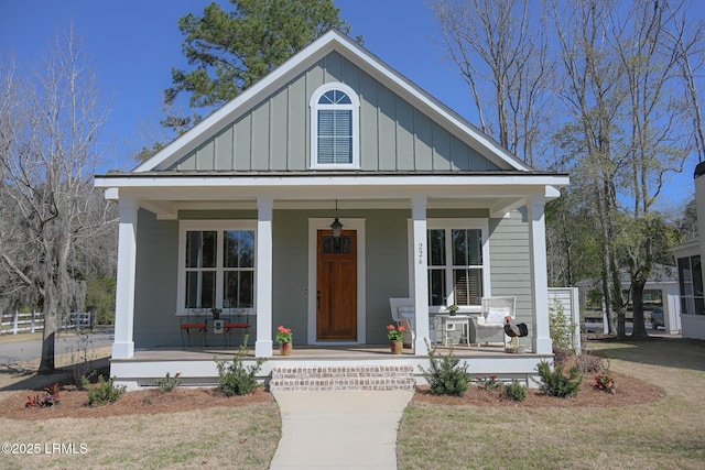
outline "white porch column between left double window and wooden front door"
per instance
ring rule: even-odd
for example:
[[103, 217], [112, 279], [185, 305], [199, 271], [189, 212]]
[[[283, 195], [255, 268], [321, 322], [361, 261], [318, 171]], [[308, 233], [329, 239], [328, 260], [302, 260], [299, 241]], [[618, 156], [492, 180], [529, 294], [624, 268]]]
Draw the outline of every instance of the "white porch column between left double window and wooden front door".
[[272, 356], [272, 209], [271, 197], [257, 198], [257, 342], [254, 356]]

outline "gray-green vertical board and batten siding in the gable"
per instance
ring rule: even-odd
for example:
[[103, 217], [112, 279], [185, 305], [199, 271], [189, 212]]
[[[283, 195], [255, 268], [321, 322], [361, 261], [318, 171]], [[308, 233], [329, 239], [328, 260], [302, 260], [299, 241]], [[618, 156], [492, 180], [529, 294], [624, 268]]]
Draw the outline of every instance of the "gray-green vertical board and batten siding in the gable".
[[330, 81], [349, 86], [360, 99], [361, 171], [501, 170], [337, 52], [245, 111], [178, 162], [161, 170], [310, 170], [310, 99], [319, 86]]

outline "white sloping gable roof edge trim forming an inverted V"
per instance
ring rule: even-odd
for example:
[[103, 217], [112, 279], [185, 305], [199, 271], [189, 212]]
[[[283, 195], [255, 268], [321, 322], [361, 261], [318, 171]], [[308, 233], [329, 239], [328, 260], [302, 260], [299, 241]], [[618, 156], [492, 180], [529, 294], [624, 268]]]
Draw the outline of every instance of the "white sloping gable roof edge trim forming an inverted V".
[[177, 162], [188, 152], [210, 139], [223, 125], [248, 112], [262, 99], [284, 86], [292, 77], [304, 72], [334, 51], [426, 113], [433, 121], [438, 122], [452, 133], [462, 136], [464, 141], [468, 142], [484, 157], [498, 167], [522, 172], [531, 172], [533, 170], [347, 35], [332, 30], [246, 89], [237, 98], [224, 105], [189, 131], [171, 142], [150, 160], [140, 164], [133, 172], [158, 171]]

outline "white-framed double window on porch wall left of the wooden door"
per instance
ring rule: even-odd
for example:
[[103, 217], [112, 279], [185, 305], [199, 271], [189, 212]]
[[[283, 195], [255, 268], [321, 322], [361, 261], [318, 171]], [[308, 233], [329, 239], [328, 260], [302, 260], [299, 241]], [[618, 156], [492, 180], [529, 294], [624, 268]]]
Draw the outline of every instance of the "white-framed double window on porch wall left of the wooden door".
[[182, 222], [178, 310], [254, 307], [254, 226]]

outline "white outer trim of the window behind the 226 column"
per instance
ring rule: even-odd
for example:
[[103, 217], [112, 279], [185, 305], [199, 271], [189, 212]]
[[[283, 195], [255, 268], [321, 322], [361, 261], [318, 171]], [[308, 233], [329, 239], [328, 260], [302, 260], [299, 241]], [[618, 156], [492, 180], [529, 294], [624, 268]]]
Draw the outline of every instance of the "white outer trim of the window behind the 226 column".
[[[409, 219], [409, 240], [413, 240], [412, 237], [412, 220]], [[436, 230], [436, 229], [444, 229], [444, 230], [452, 230], [452, 229], [458, 229], [458, 230], [480, 230], [481, 237], [482, 237], [482, 297], [488, 297], [490, 295], [490, 293], [492, 292], [491, 289], [491, 285], [490, 285], [490, 259], [489, 259], [489, 223], [487, 221], [487, 219], [427, 219], [426, 221], [426, 231], [429, 230]], [[447, 237], [447, 234], [446, 234]], [[409, 277], [409, 293], [413, 293], [414, 292], [414, 280], [413, 280], [413, 275], [411, 273], [413, 273], [413, 269], [414, 269], [414, 252], [413, 252], [413, 243], [409, 243], [409, 272], [410, 272], [410, 277]], [[446, 266], [447, 267], [447, 266]], [[426, 267], [426, 281], [427, 281], [427, 272], [429, 269]], [[446, 289], [448, 289], [447, 292], [453, 292], [453, 278], [451, 276], [451, 278], [448, 278], [446, 276]], [[477, 314], [479, 313], [481, 309], [481, 306], [477, 305], [473, 305], [473, 306], [460, 306], [460, 309], [458, 310], [459, 314]], [[430, 314], [446, 314], [446, 309], [443, 306], [437, 306], [437, 305], [429, 305], [429, 313]]]

